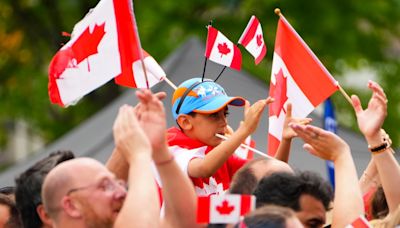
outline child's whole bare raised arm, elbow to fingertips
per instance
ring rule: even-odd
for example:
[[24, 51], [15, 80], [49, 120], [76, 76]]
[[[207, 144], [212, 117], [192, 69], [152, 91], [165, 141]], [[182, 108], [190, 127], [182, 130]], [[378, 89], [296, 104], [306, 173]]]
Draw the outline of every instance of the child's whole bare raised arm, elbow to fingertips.
[[229, 137], [228, 140], [212, 149], [202, 158], [194, 158], [189, 162], [188, 174], [190, 177], [210, 177], [212, 176], [235, 152], [240, 144], [251, 133], [253, 133], [260, 121], [261, 114], [267, 104], [273, 101], [272, 98], [259, 100], [251, 107], [249, 102], [245, 105], [245, 118], [240, 123], [239, 128]]

